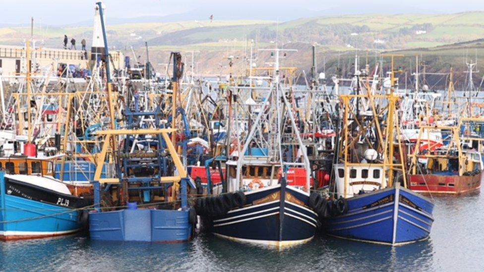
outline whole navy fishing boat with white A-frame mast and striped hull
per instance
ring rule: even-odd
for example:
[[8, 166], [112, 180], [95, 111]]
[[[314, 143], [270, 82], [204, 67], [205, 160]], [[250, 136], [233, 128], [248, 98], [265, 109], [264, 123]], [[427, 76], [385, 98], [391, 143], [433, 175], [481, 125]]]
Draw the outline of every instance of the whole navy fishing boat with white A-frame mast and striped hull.
[[[280, 82], [280, 73], [288, 73], [284, 77], [287, 80], [295, 69], [279, 67], [280, 52], [288, 50], [270, 51], [275, 55], [274, 68], [258, 68], [273, 74], [266, 77], [268, 88], [256, 90], [251, 84], [251, 72], [248, 86], [228, 88], [227, 177], [222, 179], [223, 192], [198, 199], [195, 207], [203, 229], [216, 236], [281, 248], [312, 239], [318, 215], [309, 206], [310, 166], [287, 98], [292, 88]], [[237, 118], [241, 117], [234, 112], [244, 111], [230, 105], [234, 105], [235, 97], [249, 93], [252, 98], [256, 91], [263, 96], [243, 106], [249, 109], [249, 121], [248, 129], [240, 133]], [[283, 122], [283, 118], [287, 121]]]

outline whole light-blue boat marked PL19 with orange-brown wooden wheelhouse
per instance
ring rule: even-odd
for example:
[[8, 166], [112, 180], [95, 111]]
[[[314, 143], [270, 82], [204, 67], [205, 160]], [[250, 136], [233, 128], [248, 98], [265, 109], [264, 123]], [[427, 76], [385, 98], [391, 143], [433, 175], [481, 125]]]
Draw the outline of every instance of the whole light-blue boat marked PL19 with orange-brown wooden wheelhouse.
[[[56, 159], [56, 158], [54, 158]], [[0, 239], [18, 240], [66, 235], [87, 226], [92, 199], [54, 178], [54, 160], [1, 158]]]

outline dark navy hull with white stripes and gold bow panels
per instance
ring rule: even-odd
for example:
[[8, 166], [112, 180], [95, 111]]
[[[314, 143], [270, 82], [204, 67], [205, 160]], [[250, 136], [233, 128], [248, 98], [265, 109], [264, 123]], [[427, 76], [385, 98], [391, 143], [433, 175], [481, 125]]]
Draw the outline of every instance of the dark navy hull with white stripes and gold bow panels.
[[239, 242], [285, 247], [313, 238], [317, 215], [309, 196], [292, 186], [274, 186], [246, 192], [246, 204], [224, 216], [202, 217], [202, 224], [217, 236]]

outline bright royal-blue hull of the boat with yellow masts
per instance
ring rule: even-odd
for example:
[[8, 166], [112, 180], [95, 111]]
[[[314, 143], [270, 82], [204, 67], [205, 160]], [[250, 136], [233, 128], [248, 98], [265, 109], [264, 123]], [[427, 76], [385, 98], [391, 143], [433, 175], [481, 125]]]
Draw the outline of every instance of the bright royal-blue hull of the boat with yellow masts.
[[403, 245], [428, 238], [433, 203], [400, 188], [387, 188], [348, 199], [346, 215], [324, 221], [327, 234], [363, 242]]

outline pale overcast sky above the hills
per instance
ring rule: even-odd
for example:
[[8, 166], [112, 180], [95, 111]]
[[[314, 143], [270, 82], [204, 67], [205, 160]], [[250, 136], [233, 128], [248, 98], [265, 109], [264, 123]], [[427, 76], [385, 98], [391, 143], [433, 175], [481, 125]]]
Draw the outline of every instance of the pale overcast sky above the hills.
[[[2, 0], [0, 23], [28, 24], [33, 16], [37, 23], [65, 25], [91, 20], [96, 0]], [[355, 13], [453, 13], [484, 10], [482, 0], [105, 0], [107, 17], [129, 18], [164, 16], [191, 12], [223, 13], [241, 19], [250, 10], [264, 9], [260, 19], [281, 21], [314, 15], [341, 15]], [[337, 3], [337, 5], [335, 4]], [[273, 12], [271, 12], [273, 7]], [[229, 10], [233, 10], [230, 12]], [[240, 12], [243, 10], [244, 12]], [[239, 12], [238, 12], [239, 11]], [[307, 12], [306, 12], [307, 11]], [[242, 14], [241, 14], [242, 13]], [[209, 16], [208, 14], [207, 16]], [[308, 16], [305, 16], [308, 15]], [[203, 14], [205, 17], [206, 14]], [[247, 15], [250, 17], [249, 15]], [[222, 17], [222, 16], [219, 16]], [[262, 18], [264, 17], [264, 18]], [[282, 17], [282, 18], [280, 18]], [[253, 18], [250, 18], [253, 19]], [[109, 23], [109, 21], [108, 21]]]

